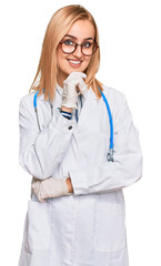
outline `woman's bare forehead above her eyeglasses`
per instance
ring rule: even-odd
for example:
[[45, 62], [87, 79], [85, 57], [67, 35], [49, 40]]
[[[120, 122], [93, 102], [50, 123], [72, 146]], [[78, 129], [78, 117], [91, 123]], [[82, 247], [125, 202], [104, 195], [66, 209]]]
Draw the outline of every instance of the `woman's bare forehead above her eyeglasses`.
[[95, 32], [93, 24], [89, 20], [78, 20], [72, 24], [67, 34], [81, 40], [87, 38], [94, 39]]

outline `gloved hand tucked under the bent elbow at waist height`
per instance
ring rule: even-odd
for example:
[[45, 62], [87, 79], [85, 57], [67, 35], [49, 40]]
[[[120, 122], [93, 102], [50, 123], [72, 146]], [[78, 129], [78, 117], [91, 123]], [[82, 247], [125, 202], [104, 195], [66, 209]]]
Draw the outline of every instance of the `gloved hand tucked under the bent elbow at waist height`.
[[32, 178], [31, 187], [40, 202], [46, 202], [47, 197], [59, 197], [70, 195], [66, 178], [49, 177], [46, 180]]

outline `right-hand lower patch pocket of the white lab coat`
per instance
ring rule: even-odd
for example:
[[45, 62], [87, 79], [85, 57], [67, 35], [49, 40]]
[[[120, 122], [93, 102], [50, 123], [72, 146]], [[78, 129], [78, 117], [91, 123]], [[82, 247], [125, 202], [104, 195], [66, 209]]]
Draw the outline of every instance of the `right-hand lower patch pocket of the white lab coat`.
[[98, 201], [95, 221], [95, 249], [119, 252], [125, 244], [125, 225], [122, 205]]

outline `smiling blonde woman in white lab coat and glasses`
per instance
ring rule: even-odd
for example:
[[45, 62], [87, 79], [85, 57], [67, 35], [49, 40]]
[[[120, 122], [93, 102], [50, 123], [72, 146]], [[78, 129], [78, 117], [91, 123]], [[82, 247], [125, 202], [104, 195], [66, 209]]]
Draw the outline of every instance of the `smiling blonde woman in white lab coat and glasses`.
[[95, 79], [99, 63], [90, 12], [58, 10], [20, 100], [20, 165], [32, 184], [19, 266], [129, 265], [122, 188], [141, 177], [142, 153], [124, 94]]

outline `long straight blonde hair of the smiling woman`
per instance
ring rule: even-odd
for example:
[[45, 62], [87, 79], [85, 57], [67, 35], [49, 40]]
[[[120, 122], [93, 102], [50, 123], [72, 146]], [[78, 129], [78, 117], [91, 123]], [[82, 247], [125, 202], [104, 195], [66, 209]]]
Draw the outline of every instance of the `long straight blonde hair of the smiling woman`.
[[[62, 38], [70, 30], [72, 24], [77, 20], [89, 20], [95, 30], [95, 41], [99, 45], [99, 33], [98, 27], [92, 14], [80, 4], [70, 4], [59, 9], [53, 13], [52, 18], [49, 21], [47, 31], [44, 34], [41, 57], [38, 65], [38, 70], [34, 76], [34, 80], [31, 84], [31, 90], [40, 91], [39, 95], [43, 93], [44, 90], [44, 100], [48, 100], [49, 96], [53, 101], [57, 86], [58, 69], [57, 69], [57, 48]], [[98, 81], [94, 76], [100, 66], [100, 49], [91, 57], [90, 63], [84, 71], [87, 74], [85, 84], [88, 88], [92, 88], [95, 95], [101, 98], [101, 93], [98, 89], [100, 86], [101, 91], [102, 83]]]

